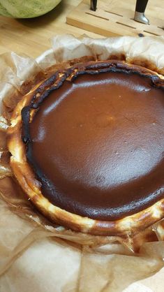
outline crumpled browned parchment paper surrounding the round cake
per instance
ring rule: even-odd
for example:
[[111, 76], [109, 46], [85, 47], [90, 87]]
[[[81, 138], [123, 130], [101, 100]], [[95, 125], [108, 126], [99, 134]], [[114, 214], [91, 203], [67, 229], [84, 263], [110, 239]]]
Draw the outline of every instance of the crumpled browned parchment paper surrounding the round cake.
[[[163, 52], [162, 37], [77, 39], [66, 35], [55, 36], [52, 49], [36, 61], [13, 52], [0, 56], [1, 114], [8, 112], [6, 119], [0, 119], [0, 291], [117, 292], [163, 268], [163, 221], [154, 231], [144, 232], [143, 241], [150, 242], [133, 239], [135, 253], [134, 242], [120, 244], [119, 238], [74, 233], [38, 214], [12, 178], [5, 133], [15, 103], [52, 70], [86, 59], [122, 59], [164, 74]], [[142, 280], [125, 291], [163, 291], [161, 275], [162, 270], [152, 280]]]

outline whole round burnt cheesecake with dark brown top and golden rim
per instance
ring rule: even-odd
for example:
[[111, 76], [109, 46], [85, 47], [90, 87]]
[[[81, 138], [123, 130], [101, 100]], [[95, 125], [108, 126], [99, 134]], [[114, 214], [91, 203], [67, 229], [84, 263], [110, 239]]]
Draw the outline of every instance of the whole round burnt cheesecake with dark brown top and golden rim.
[[10, 165], [38, 210], [75, 231], [136, 233], [164, 217], [164, 79], [121, 61], [54, 73], [17, 104]]

